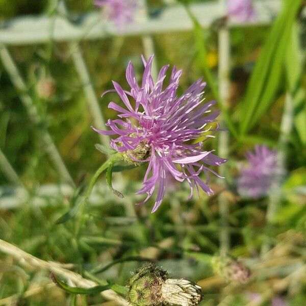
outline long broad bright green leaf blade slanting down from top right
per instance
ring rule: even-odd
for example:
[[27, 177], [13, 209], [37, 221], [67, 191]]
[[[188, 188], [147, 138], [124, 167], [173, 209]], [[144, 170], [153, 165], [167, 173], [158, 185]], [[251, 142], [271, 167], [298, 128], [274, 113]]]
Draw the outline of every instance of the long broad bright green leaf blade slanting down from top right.
[[302, 0], [285, 0], [252, 72], [241, 104], [240, 134], [246, 134], [273, 103], [281, 83], [292, 24]]

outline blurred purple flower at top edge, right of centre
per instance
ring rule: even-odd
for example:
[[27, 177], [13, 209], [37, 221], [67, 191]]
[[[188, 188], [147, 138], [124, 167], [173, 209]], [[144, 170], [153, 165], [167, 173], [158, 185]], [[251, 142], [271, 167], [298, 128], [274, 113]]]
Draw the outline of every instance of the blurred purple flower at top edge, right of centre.
[[256, 17], [252, 0], [228, 0], [227, 15], [234, 21], [247, 22]]

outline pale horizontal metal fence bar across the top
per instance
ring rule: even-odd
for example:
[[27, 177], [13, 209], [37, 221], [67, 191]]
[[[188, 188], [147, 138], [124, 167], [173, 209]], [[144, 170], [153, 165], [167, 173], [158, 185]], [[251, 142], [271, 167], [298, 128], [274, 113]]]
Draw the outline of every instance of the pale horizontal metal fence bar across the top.
[[[279, 9], [281, 1], [265, 0], [255, 4], [258, 12], [251, 24], [269, 24]], [[209, 27], [217, 18], [222, 17], [218, 2], [194, 4], [191, 11], [203, 28]], [[123, 32], [118, 32], [112, 22], [103, 19], [99, 12], [77, 16], [68, 21], [65, 16], [58, 16], [50, 33], [50, 24], [54, 17], [27, 16], [4, 21], [0, 29], [0, 42], [7, 45], [29, 45], [46, 43], [51, 38], [56, 42], [75, 40], [94, 40], [114, 35], [137, 36], [168, 32], [188, 31], [192, 22], [182, 6], [169, 6], [156, 17], [139, 18], [127, 24]], [[245, 26], [243, 23], [230, 23], [230, 27]]]

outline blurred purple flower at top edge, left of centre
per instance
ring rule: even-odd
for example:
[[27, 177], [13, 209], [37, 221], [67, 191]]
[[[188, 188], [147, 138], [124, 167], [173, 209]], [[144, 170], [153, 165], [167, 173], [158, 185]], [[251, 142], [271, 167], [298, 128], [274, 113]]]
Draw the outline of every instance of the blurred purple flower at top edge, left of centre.
[[95, 0], [94, 4], [103, 8], [106, 16], [122, 30], [126, 23], [134, 20], [137, 0]]

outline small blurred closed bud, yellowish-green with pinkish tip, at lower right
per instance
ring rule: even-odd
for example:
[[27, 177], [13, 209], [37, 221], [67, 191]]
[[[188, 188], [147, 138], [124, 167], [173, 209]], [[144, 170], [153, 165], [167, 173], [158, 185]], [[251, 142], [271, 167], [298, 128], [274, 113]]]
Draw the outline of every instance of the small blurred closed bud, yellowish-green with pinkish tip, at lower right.
[[232, 256], [214, 256], [212, 267], [216, 274], [226, 282], [245, 283], [250, 276], [250, 270]]

